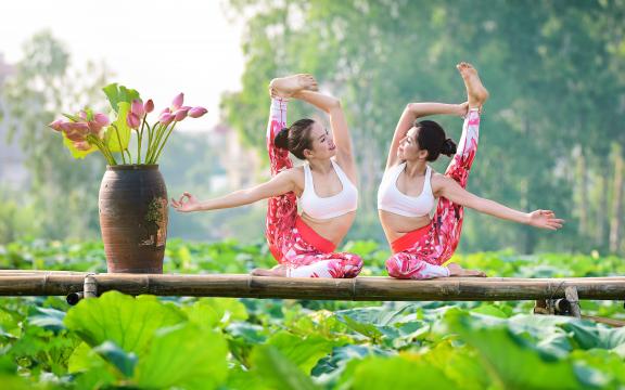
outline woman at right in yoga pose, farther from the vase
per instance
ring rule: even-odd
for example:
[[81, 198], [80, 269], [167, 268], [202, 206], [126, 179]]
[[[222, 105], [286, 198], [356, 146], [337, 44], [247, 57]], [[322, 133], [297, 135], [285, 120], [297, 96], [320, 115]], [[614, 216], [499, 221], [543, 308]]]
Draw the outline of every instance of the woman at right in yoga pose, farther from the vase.
[[[380, 220], [394, 253], [386, 260], [393, 277], [485, 276], [456, 263], [443, 265], [458, 246], [463, 207], [540, 229], [558, 230], [564, 222], [549, 210], [525, 213], [464, 190], [477, 150], [480, 112], [488, 91], [473, 66], [460, 63], [457, 68], [467, 87], [468, 102], [408, 104], [393, 135], [378, 192]], [[435, 114], [464, 116], [458, 148], [438, 123], [418, 120]], [[441, 154], [454, 155], [445, 174], [433, 172], [428, 165]], [[435, 198], [438, 206], [431, 219]]]

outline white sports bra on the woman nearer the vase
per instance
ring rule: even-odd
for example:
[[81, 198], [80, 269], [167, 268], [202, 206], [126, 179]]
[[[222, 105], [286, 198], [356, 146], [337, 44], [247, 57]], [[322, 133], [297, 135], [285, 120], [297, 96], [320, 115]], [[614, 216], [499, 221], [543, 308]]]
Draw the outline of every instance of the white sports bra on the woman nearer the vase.
[[332, 161], [334, 171], [343, 185], [343, 190], [333, 196], [319, 197], [315, 193], [312, 172], [308, 162], [304, 164], [304, 192], [299, 197], [302, 210], [315, 219], [330, 219], [343, 216], [356, 210], [358, 207], [358, 190], [354, 185], [339, 164]]

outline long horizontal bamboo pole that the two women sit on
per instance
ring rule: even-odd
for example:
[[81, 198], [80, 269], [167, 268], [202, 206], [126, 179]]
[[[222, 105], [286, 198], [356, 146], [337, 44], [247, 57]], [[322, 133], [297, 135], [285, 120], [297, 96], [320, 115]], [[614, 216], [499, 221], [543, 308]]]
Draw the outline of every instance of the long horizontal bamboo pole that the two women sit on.
[[[82, 291], [82, 274], [0, 271], [0, 296], [66, 296]], [[579, 299], [621, 300], [625, 277], [475, 278], [446, 277], [398, 281], [391, 277], [353, 280], [263, 277], [246, 274], [156, 275], [94, 274], [98, 292], [156, 296], [292, 298], [321, 300], [536, 300], [565, 298], [575, 287]]]

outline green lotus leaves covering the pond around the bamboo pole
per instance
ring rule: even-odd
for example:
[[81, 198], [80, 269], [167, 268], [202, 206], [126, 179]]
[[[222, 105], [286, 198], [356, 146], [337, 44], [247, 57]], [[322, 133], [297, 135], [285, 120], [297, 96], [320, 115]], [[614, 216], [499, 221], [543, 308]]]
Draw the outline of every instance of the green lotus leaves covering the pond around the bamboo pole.
[[[373, 258], [368, 242], [348, 246]], [[247, 272], [266, 248], [174, 242], [170, 272]], [[99, 270], [100, 244], [13, 243], [0, 268]], [[242, 252], [248, 258], [241, 261]], [[373, 255], [372, 255], [373, 253]], [[485, 252], [457, 257], [498, 276], [623, 274], [616, 257]], [[199, 266], [200, 264], [200, 266]], [[374, 275], [381, 264], [371, 263]], [[527, 314], [533, 302], [344, 302], [129, 297], [74, 308], [0, 300], [0, 379], [15, 388], [622, 388], [625, 328]], [[585, 314], [625, 318], [618, 302]]]

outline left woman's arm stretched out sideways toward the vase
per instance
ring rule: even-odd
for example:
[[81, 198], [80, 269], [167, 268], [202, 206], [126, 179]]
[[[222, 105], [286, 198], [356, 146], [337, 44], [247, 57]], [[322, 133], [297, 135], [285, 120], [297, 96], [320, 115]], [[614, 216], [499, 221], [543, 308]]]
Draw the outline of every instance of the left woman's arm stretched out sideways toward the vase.
[[171, 207], [180, 212], [231, 208], [250, 205], [260, 199], [267, 199], [272, 196], [282, 195], [288, 192], [295, 191], [295, 181], [293, 180], [292, 172], [283, 171], [278, 173], [266, 183], [256, 185], [252, 188], [235, 191], [214, 199], [201, 202], [190, 193], [186, 192], [182, 194], [182, 196], [180, 196], [180, 199], [178, 200], [171, 198]]

